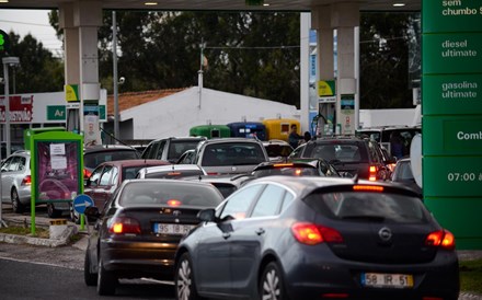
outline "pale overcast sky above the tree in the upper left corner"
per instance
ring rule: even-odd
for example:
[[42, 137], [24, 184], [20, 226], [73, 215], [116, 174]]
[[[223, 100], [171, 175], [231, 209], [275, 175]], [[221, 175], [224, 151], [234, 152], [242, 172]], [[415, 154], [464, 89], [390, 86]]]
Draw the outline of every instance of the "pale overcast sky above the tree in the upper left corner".
[[[21, 39], [28, 33], [55, 56], [61, 56], [62, 43], [48, 23], [49, 10], [0, 10], [0, 30], [13, 31]], [[59, 55], [60, 54], [60, 55]]]

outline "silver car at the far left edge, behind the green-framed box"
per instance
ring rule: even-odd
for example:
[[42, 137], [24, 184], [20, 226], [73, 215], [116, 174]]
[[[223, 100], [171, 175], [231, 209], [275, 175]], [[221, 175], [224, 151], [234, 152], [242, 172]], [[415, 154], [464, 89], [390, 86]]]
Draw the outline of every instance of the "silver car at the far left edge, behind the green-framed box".
[[31, 203], [31, 154], [19, 150], [1, 164], [1, 199], [12, 204], [13, 211], [21, 214]]

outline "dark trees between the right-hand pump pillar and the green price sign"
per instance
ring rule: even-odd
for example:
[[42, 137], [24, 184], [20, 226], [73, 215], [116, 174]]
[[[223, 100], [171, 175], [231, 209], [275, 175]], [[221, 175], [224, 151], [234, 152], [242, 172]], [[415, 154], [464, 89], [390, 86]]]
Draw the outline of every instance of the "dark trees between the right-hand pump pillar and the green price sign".
[[363, 13], [360, 108], [413, 107], [408, 30], [413, 14]]

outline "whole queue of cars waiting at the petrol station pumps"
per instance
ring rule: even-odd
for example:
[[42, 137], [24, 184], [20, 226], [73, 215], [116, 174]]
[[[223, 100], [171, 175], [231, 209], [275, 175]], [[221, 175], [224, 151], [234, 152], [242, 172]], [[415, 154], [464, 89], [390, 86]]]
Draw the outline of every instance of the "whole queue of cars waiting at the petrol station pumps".
[[389, 182], [394, 160], [377, 142], [322, 138], [289, 155], [266, 145], [104, 157], [85, 180], [85, 284], [113, 295], [122, 278], [174, 280], [177, 299], [457, 299], [454, 235], [421, 193]]

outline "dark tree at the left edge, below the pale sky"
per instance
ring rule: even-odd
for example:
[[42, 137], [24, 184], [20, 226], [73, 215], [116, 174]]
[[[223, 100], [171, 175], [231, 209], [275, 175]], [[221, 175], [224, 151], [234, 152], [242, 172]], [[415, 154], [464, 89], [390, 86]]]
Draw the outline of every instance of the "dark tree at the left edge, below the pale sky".
[[19, 57], [20, 65], [14, 67], [15, 93], [64, 90], [64, 64], [59, 58], [54, 57], [31, 34], [20, 39], [20, 35], [10, 32], [9, 37], [11, 50], [9, 55], [2, 55], [2, 57]]

